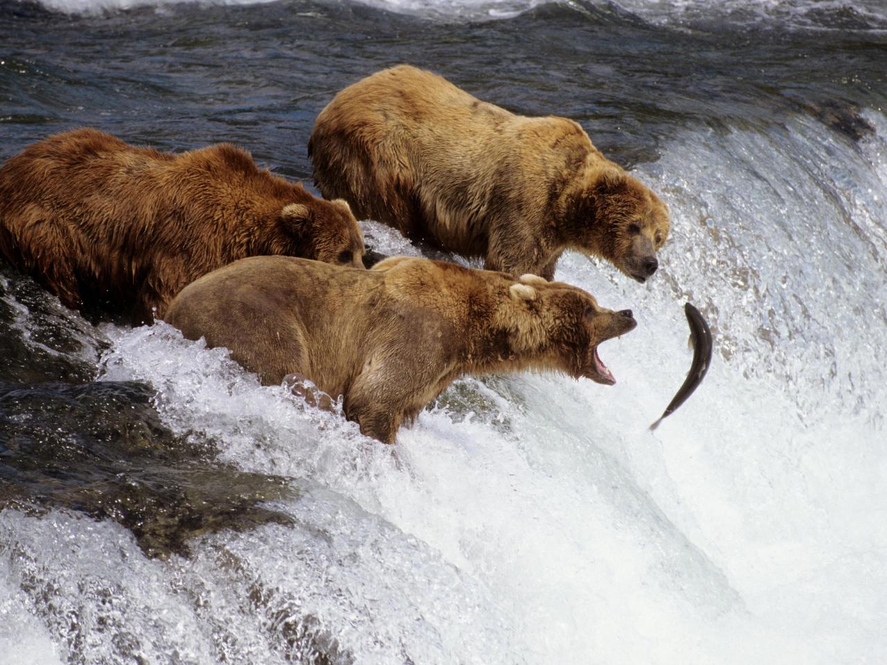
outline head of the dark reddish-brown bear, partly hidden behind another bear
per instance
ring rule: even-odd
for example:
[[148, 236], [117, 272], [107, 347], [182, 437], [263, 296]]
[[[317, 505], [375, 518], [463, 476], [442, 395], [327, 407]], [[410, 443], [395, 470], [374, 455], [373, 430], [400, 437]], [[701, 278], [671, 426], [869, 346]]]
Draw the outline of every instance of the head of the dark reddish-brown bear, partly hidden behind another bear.
[[280, 211], [280, 224], [299, 254], [316, 261], [364, 268], [364, 236], [348, 203], [314, 199], [290, 203]]

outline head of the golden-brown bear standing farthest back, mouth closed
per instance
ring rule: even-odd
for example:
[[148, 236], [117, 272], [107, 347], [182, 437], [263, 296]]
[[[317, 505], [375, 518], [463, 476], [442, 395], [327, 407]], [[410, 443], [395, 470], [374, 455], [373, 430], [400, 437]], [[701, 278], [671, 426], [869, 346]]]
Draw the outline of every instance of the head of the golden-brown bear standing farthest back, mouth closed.
[[565, 231], [572, 249], [607, 259], [640, 283], [659, 267], [668, 207], [640, 180], [616, 165], [589, 170], [568, 206]]

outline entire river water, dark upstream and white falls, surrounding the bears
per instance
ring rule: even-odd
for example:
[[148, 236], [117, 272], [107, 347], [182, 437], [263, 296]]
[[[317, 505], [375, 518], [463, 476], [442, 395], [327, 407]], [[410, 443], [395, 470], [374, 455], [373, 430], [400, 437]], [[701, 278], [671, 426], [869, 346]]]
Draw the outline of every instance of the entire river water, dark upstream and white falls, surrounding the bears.
[[[882, 662], [885, 30], [874, 0], [0, 0], [0, 159], [89, 125], [310, 184], [320, 109], [410, 62], [580, 122], [672, 220], [645, 285], [557, 266], [638, 320], [615, 386], [461, 379], [393, 452], [0, 264], [0, 663]], [[714, 356], [650, 432], [685, 301]]]

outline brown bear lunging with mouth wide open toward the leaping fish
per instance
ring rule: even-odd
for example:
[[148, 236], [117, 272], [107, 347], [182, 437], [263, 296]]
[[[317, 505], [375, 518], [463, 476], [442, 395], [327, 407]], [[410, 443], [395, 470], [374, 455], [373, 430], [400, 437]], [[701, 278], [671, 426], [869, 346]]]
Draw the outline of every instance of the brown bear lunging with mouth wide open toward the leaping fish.
[[243, 259], [185, 286], [166, 321], [229, 348], [266, 385], [295, 373], [343, 395], [346, 417], [386, 443], [464, 374], [555, 370], [613, 384], [598, 345], [636, 325], [576, 286], [404, 256], [373, 270]]

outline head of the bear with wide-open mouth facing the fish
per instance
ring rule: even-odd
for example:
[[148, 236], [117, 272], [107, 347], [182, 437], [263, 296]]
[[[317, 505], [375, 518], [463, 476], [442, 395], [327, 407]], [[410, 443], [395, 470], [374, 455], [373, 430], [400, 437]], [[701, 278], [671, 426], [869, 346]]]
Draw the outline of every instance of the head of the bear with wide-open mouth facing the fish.
[[538, 325], [518, 325], [525, 348], [536, 348], [542, 366], [559, 369], [578, 379], [585, 377], [612, 386], [613, 373], [598, 354], [600, 342], [634, 329], [631, 309], [613, 311], [598, 305], [593, 295], [576, 286], [523, 275], [509, 287], [516, 304]]

